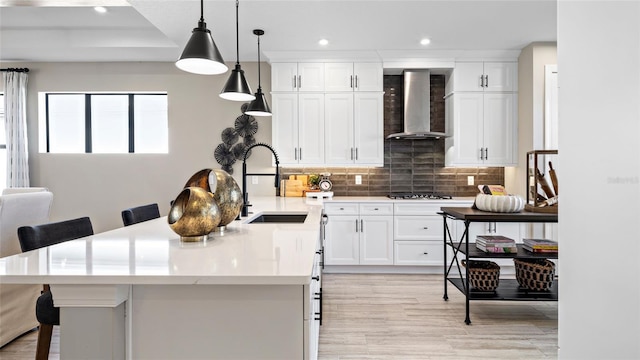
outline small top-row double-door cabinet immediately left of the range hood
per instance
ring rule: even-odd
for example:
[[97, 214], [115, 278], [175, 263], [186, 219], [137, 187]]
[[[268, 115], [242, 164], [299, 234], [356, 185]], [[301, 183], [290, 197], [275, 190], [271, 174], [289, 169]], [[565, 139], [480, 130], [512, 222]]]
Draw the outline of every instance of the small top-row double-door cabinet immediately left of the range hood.
[[382, 91], [381, 63], [326, 63], [324, 89], [333, 91]]

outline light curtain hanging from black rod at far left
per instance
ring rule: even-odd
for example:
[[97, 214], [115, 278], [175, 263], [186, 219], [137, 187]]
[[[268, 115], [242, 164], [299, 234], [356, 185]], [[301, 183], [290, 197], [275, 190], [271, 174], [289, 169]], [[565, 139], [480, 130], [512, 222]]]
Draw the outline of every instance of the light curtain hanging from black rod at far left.
[[4, 126], [7, 136], [7, 187], [29, 186], [27, 73], [7, 71], [4, 78]]

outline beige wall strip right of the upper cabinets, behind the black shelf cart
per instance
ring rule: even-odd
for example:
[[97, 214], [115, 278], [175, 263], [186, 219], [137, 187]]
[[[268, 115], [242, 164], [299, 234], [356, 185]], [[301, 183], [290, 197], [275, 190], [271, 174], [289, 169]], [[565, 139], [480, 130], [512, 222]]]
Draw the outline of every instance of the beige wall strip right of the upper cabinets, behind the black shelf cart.
[[544, 66], [556, 63], [556, 43], [531, 43], [518, 57], [518, 166], [505, 168], [504, 182], [525, 199], [527, 152], [544, 148]]

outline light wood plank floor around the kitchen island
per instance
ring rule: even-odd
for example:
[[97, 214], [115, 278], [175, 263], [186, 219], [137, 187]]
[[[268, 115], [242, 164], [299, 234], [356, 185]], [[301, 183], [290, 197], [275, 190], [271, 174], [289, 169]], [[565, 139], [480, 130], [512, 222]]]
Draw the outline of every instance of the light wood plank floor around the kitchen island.
[[[324, 274], [320, 360], [555, 359], [557, 302], [471, 302], [440, 275]], [[33, 359], [37, 332], [0, 349]], [[60, 358], [57, 327], [49, 359]]]

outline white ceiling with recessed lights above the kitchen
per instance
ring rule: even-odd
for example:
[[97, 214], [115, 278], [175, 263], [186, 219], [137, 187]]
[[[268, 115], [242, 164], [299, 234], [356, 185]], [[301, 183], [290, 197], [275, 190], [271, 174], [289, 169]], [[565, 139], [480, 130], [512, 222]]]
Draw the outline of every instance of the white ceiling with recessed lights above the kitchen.
[[[43, 6], [46, 5], [46, 6]], [[98, 14], [94, 5], [106, 6]], [[518, 51], [556, 41], [555, 0], [241, 0], [240, 60], [385, 59]], [[0, 0], [0, 61], [175, 61], [200, 18], [198, 0]], [[204, 0], [204, 19], [236, 60], [235, 0]], [[423, 46], [420, 39], [431, 44]], [[318, 40], [329, 40], [320, 46]], [[354, 55], [355, 54], [355, 55]], [[435, 54], [435, 55], [434, 55]]]

